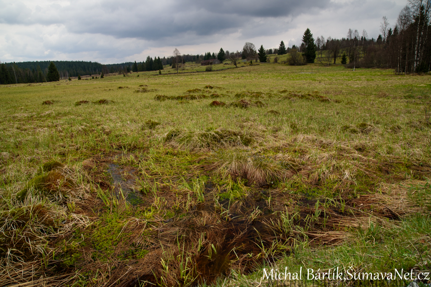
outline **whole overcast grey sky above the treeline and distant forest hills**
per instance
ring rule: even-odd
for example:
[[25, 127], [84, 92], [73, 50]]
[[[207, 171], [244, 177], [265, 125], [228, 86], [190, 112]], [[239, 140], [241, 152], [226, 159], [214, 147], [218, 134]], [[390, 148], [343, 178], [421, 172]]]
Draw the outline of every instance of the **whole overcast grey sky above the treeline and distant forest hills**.
[[147, 56], [300, 45], [346, 37], [377, 38], [407, 0], [0, 0], [0, 61], [143, 61]]

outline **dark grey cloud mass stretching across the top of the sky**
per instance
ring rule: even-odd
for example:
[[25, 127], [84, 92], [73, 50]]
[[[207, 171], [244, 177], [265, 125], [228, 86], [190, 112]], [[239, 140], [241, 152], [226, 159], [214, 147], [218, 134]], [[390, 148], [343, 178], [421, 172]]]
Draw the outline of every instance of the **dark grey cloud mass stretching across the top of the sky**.
[[292, 16], [307, 12], [310, 7], [324, 8], [330, 5], [330, 0], [75, 0], [67, 6], [50, 4], [33, 12], [20, 1], [1, 3], [6, 6], [0, 11], [3, 23], [64, 24], [74, 33], [150, 41], [173, 37], [180, 44], [183, 35], [208, 36], [248, 29], [255, 26], [256, 17]]

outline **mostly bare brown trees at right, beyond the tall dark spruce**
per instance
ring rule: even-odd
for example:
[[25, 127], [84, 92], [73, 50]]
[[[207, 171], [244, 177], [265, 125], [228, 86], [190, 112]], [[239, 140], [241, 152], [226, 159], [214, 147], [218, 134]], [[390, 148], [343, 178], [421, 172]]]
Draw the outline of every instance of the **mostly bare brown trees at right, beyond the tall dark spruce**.
[[393, 68], [395, 73], [429, 72], [431, 70], [431, 1], [410, 0], [390, 26], [382, 17], [381, 34], [367, 39], [349, 29], [347, 37], [332, 39], [317, 37], [319, 61], [330, 64], [341, 57], [341, 63], [351, 67]]

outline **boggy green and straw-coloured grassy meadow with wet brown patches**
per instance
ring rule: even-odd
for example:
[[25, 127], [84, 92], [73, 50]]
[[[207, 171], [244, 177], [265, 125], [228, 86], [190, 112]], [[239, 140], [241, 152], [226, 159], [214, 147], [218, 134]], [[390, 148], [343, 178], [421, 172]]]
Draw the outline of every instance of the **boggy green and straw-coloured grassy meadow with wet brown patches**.
[[2, 85], [0, 107], [2, 286], [431, 269], [429, 75], [165, 69]]

